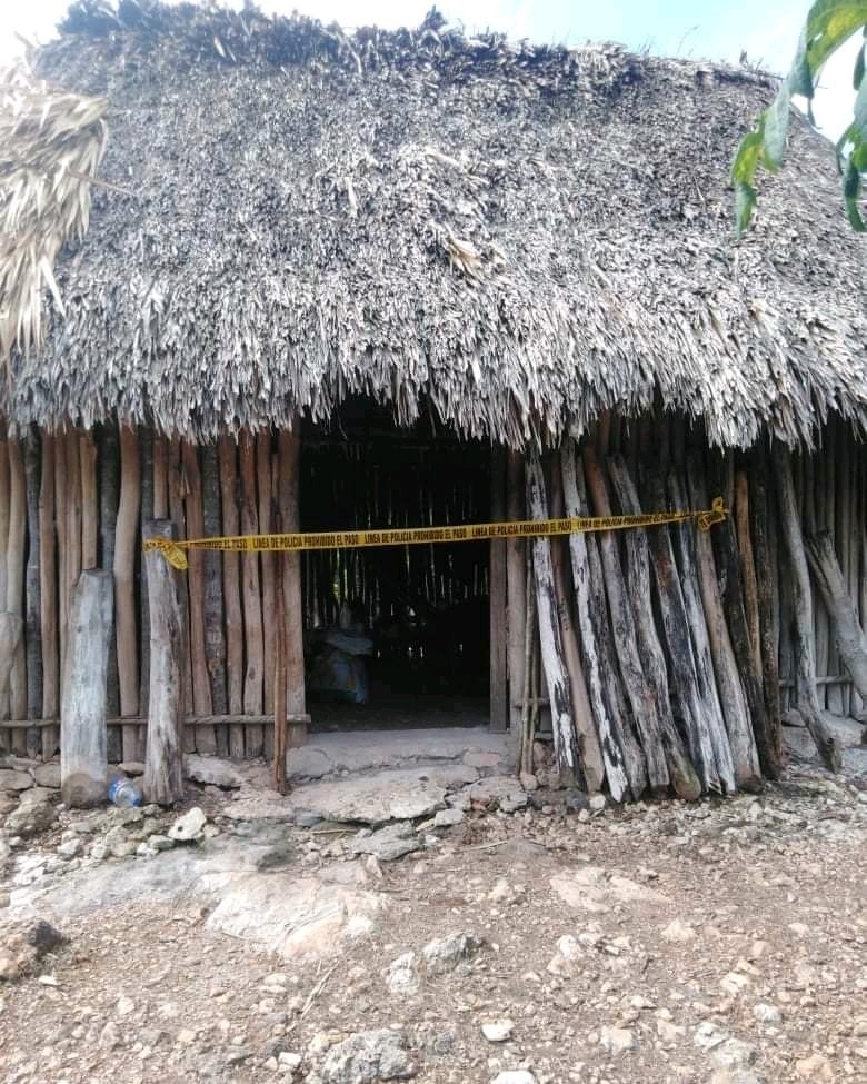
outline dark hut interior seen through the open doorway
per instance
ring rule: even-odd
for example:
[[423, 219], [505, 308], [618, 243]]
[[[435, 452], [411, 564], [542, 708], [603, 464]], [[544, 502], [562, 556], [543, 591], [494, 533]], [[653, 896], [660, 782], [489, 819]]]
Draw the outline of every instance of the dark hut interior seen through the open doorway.
[[[485, 521], [490, 453], [428, 420], [346, 405], [303, 434], [301, 529]], [[302, 554], [313, 729], [488, 720], [487, 541]], [[363, 654], [353, 654], [356, 650]]]

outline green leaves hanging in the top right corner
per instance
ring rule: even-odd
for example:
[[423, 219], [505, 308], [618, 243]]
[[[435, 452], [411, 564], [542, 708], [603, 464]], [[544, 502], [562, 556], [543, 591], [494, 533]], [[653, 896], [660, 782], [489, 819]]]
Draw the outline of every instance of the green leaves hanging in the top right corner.
[[[777, 97], [758, 118], [755, 129], [740, 141], [731, 165], [735, 186], [738, 236], [749, 223], [756, 206], [756, 171], [761, 167], [776, 172], [786, 153], [789, 108], [793, 95], [807, 99], [810, 119], [816, 82], [823, 66], [845, 42], [861, 32], [867, 39], [867, 0], [816, 0], [798, 43], [795, 61]], [[855, 63], [853, 122], [837, 143], [837, 163], [843, 176], [843, 195], [853, 227], [867, 231], [859, 201], [867, 175], [867, 79], [865, 49]]]

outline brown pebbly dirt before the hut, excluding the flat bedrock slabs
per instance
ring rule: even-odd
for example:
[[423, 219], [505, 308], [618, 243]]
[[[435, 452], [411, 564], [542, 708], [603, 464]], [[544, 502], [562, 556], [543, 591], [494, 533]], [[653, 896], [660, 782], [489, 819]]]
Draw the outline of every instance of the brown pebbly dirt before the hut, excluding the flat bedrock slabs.
[[[864, 786], [801, 768], [691, 807], [470, 810], [382, 864], [347, 854], [351, 829], [280, 826], [270, 884], [345, 866], [380, 901], [360, 935], [286, 958], [209, 928], [195, 888], [56, 905], [68, 942], [0, 984], [0, 1078], [867, 1081]], [[219, 848], [237, 826], [211, 817]], [[435, 966], [425, 946], [455, 934]], [[338, 1057], [375, 1030], [396, 1067]]]

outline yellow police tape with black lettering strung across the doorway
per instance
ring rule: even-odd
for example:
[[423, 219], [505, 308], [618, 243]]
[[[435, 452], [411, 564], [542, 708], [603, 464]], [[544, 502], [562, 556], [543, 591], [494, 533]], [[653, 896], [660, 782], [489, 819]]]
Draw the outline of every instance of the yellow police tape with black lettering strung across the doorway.
[[467, 524], [462, 527], [407, 527], [389, 530], [337, 530], [298, 535], [236, 535], [229, 538], [148, 538], [144, 550], [159, 549], [175, 568], [187, 568], [188, 549], [223, 549], [259, 553], [300, 549], [358, 549], [363, 546], [419, 546], [431, 543], [478, 541], [485, 538], [537, 538], [578, 531], [625, 530], [658, 527], [695, 519], [700, 530], [721, 523], [728, 509], [721, 497], [700, 511], [650, 511], [636, 516], [587, 516], [572, 519], [522, 519], [500, 524]]

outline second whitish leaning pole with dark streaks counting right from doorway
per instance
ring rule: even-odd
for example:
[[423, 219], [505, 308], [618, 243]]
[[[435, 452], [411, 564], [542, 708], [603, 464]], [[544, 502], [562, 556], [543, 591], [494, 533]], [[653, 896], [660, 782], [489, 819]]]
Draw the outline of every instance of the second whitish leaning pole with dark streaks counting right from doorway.
[[[576, 473], [575, 441], [567, 440], [560, 453], [564, 500], [566, 515], [571, 518], [586, 515], [582, 506], [578, 476]], [[605, 775], [608, 789], [615, 802], [621, 802], [629, 793], [629, 776], [624, 763], [621, 722], [614, 719], [605, 696], [602, 663], [599, 657], [596, 629], [592, 620], [592, 599], [590, 591], [590, 566], [587, 541], [582, 534], [569, 536], [569, 553], [572, 563], [572, 589], [575, 590], [575, 613], [580, 633], [578, 643], [587, 676], [587, 690], [592, 705], [594, 718], [599, 735]], [[617, 678], [617, 675], [615, 675]]]

